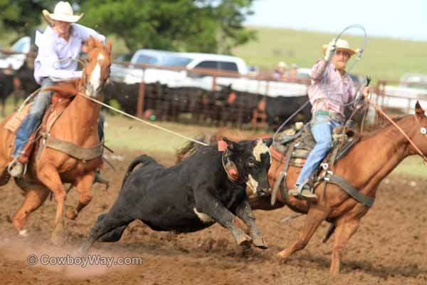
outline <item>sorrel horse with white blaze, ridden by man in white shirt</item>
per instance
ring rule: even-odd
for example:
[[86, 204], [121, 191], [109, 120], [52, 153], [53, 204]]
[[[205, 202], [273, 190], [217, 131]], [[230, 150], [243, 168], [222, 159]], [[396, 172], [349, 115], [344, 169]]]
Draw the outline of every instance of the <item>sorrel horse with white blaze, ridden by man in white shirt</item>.
[[[79, 92], [100, 100], [100, 90], [110, 76], [111, 42], [104, 46], [102, 42], [90, 37], [88, 40], [88, 63], [83, 70], [83, 76], [79, 80], [58, 83], [48, 88], [56, 91], [56, 95], [76, 95]], [[13, 114], [12, 114], [13, 115]], [[7, 165], [11, 162], [11, 152], [14, 150], [15, 134], [6, 130], [4, 126], [12, 115], [0, 124], [0, 181], [4, 185], [9, 180]], [[99, 145], [97, 125], [100, 118], [100, 105], [93, 103], [88, 98], [76, 95], [62, 115], [51, 128], [50, 135], [78, 147], [91, 147]], [[64, 225], [63, 216], [75, 219], [92, 199], [90, 189], [92, 187], [95, 170], [102, 162], [102, 157], [92, 160], [77, 160], [70, 155], [44, 147], [36, 158], [40, 140], [28, 160], [28, 171], [23, 177], [16, 179], [16, 184], [23, 190], [25, 199], [12, 218], [12, 224], [18, 229], [21, 236], [26, 236], [24, 229], [26, 219], [31, 212], [43, 204], [52, 191], [57, 202], [55, 229], [52, 234], [52, 242], [63, 242]], [[67, 209], [65, 213], [65, 187], [63, 183], [71, 183], [80, 192], [77, 207]]]

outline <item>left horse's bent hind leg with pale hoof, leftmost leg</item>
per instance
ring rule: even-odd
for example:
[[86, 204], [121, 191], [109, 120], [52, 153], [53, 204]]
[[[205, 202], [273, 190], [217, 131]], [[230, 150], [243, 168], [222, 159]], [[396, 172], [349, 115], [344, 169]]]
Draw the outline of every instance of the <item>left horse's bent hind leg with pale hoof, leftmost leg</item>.
[[26, 237], [28, 235], [26, 229], [24, 229], [26, 219], [45, 202], [50, 191], [48, 188], [41, 185], [28, 185], [28, 187], [23, 187], [20, 183], [17, 184], [25, 192], [25, 199], [21, 207], [14, 214], [12, 224], [14, 224], [14, 227], [18, 230], [20, 236]]

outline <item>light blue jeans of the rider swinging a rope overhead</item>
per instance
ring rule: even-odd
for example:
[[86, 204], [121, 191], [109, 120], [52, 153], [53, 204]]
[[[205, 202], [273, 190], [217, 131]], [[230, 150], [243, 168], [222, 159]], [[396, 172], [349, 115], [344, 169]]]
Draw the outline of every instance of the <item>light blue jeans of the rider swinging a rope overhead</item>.
[[302, 185], [317, 170], [320, 162], [322, 162], [332, 147], [332, 130], [338, 125], [342, 125], [342, 123], [331, 120], [328, 115], [315, 115], [311, 131], [317, 143], [308, 155], [296, 185]]

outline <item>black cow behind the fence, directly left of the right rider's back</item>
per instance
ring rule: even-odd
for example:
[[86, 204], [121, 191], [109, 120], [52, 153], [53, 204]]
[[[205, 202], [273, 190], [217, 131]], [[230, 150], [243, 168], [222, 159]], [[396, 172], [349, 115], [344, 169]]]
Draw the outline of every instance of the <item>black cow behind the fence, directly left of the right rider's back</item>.
[[[308, 95], [303, 96], [278, 96], [268, 97], [265, 96], [265, 113], [267, 114], [267, 121], [270, 128], [278, 128], [290, 115], [295, 113], [298, 108], [304, 105], [308, 100]], [[290, 123], [301, 121], [307, 123], [311, 120], [312, 105], [308, 103], [305, 108], [298, 113]]]

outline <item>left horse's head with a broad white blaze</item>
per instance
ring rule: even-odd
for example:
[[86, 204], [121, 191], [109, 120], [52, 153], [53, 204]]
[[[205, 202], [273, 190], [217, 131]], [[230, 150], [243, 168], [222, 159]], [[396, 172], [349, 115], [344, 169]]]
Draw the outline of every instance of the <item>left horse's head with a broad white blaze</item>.
[[88, 63], [83, 71], [83, 86], [85, 93], [96, 97], [110, 77], [111, 41], [105, 46], [92, 36], [88, 39]]

